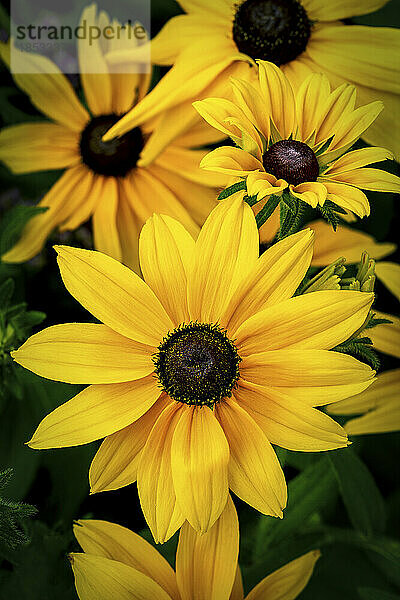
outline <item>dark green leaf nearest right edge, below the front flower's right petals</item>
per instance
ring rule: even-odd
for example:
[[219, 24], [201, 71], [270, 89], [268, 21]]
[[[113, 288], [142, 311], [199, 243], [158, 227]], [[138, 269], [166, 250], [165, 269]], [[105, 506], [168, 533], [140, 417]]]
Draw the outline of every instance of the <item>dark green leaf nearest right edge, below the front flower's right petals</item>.
[[353, 526], [367, 536], [385, 530], [385, 504], [375, 481], [351, 448], [327, 453]]

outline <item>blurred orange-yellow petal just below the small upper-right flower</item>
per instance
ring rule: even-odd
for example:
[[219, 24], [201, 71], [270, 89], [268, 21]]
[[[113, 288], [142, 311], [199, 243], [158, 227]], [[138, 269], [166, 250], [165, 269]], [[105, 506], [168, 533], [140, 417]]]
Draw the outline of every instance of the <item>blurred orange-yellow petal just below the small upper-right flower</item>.
[[357, 263], [364, 251], [371, 258], [382, 258], [396, 250], [395, 244], [376, 242], [371, 235], [343, 225], [334, 231], [321, 220], [313, 221], [307, 227], [315, 232], [312, 265], [316, 267], [329, 265], [340, 256], [348, 263]]

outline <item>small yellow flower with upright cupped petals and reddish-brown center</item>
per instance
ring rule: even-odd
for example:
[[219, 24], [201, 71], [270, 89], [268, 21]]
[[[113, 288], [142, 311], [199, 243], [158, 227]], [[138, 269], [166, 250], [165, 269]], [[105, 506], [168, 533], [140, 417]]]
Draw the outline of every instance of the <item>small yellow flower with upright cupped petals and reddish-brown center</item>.
[[[310, 204], [334, 204], [364, 217], [361, 191], [400, 192], [400, 178], [366, 167], [392, 158], [384, 148], [348, 152], [382, 110], [381, 102], [354, 109], [355, 88], [333, 92], [326, 75], [313, 74], [295, 92], [278, 67], [259, 62], [259, 82], [231, 80], [236, 102], [208, 98], [195, 108], [238, 147], [223, 146], [201, 162], [207, 170], [245, 177], [258, 200], [289, 191]], [[272, 199], [271, 199], [272, 201]]]

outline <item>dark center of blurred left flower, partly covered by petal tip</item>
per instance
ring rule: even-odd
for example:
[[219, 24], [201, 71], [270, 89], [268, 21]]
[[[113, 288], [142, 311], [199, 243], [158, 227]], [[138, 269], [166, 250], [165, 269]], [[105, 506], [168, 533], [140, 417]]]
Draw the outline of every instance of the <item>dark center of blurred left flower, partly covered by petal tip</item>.
[[116, 114], [93, 117], [82, 131], [80, 140], [82, 161], [99, 175], [125, 177], [136, 167], [143, 150], [143, 134], [139, 127], [121, 137], [103, 142], [103, 135], [120, 118]]

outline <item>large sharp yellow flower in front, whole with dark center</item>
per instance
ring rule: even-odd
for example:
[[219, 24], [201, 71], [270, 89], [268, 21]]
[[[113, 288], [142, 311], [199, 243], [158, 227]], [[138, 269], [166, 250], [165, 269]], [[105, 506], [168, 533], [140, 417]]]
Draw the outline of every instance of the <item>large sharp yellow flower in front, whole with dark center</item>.
[[239, 195], [218, 204], [197, 242], [170, 217], [149, 219], [139, 244], [144, 281], [100, 252], [57, 247], [66, 288], [104, 324], [49, 327], [13, 352], [43, 377], [92, 384], [45, 417], [29, 445], [105, 437], [92, 492], [137, 480], [160, 542], [185, 520], [207, 531], [228, 481], [281, 517], [286, 483], [271, 443], [345, 447], [343, 429], [315, 407], [361, 392], [374, 376], [329, 351], [362, 325], [373, 294], [291, 298], [312, 237], [288, 236], [259, 257], [254, 215]]

